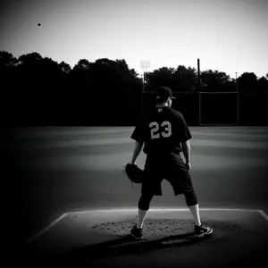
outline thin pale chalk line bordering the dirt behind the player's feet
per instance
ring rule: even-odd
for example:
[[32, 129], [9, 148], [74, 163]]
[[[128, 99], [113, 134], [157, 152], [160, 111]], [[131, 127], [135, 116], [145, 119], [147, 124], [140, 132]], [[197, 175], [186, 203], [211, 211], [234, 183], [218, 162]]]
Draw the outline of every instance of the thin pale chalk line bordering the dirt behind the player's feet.
[[[259, 209], [247, 209], [247, 208], [214, 208], [214, 207], [207, 207], [207, 208], [199, 208], [200, 211], [240, 211], [240, 212], [251, 212], [251, 213], [259, 213], [264, 217], [264, 220], [268, 222], [268, 215], [264, 213], [263, 210]], [[165, 207], [155, 207], [150, 208], [149, 212], [181, 212], [181, 211], [188, 211], [188, 208], [165, 208]], [[64, 217], [68, 216], [69, 214], [93, 214], [93, 213], [134, 213], [138, 212], [138, 208], [113, 208], [113, 209], [96, 209], [96, 210], [88, 210], [88, 211], [78, 211], [78, 212], [71, 212], [65, 213], [57, 218], [54, 222], [50, 223], [46, 228], [40, 230], [35, 236], [28, 239], [26, 243], [31, 243], [33, 240], [38, 239], [42, 234], [44, 234], [47, 230], [51, 229], [57, 222], [63, 220]]]

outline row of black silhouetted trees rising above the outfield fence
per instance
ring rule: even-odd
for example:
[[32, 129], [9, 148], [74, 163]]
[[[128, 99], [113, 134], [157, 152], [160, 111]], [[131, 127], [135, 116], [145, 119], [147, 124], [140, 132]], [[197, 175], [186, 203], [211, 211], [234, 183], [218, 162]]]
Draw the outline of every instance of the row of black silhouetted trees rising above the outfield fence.
[[130, 69], [125, 60], [102, 58], [90, 63], [87, 59], [71, 68], [68, 63], [57, 63], [38, 53], [22, 54], [19, 58], [6, 51], [0, 51], [0, 71], [2, 84], [13, 90], [23, 91], [44, 89], [54, 94], [61, 89], [72, 88], [73, 94], [92, 94], [99, 92], [106, 96], [120, 96], [130, 92], [140, 93], [154, 90], [157, 86], [167, 86], [174, 92], [268, 92], [268, 72], [258, 78], [254, 72], [244, 72], [237, 80], [231, 79], [223, 71], [200, 71], [198, 81], [197, 69], [178, 65], [177, 68], [162, 67], [145, 72], [138, 77], [137, 71]]

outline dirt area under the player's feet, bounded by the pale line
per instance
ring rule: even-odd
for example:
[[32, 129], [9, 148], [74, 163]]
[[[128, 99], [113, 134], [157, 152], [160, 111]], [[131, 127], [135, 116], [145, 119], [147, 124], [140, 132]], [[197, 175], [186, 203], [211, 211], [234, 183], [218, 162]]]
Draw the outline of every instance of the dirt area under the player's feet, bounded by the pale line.
[[[258, 211], [204, 210], [214, 228], [207, 239], [191, 236], [187, 210], [150, 211], [145, 239], [133, 242], [135, 210], [68, 214], [29, 243], [35, 264], [78, 267], [195, 267], [254, 264], [264, 259], [268, 222]], [[30, 263], [28, 260], [28, 264]]]

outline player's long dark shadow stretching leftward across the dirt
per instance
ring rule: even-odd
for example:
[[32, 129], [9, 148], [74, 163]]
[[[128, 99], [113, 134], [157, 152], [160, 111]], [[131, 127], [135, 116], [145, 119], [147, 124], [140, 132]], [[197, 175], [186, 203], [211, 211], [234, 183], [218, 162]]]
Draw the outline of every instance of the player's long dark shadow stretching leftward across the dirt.
[[148, 252], [164, 247], [183, 247], [197, 243], [202, 239], [194, 237], [193, 232], [171, 235], [161, 239], [136, 240], [131, 235], [113, 239], [102, 243], [72, 249], [60, 257], [60, 262], [67, 264], [78, 264], [87, 262], [96, 258], [116, 255], [144, 255]]

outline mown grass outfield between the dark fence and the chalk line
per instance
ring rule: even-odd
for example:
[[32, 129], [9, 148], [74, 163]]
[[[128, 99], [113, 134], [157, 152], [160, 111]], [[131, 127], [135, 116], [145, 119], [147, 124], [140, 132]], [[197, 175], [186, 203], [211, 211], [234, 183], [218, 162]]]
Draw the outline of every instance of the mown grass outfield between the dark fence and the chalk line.
[[[200, 207], [268, 213], [268, 128], [190, 127], [192, 180]], [[66, 212], [136, 207], [139, 186], [122, 172], [133, 127], [23, 128], [7, 132], [12, 160], [9, 199], [16, 235], [26, 241]], [[5, 137], [7, 138], [7, 137]], [[138, 156], [143, 167], [146, 155]], [[183, 207], [163, 181], [152, 207]]]

